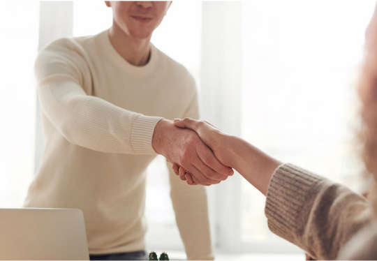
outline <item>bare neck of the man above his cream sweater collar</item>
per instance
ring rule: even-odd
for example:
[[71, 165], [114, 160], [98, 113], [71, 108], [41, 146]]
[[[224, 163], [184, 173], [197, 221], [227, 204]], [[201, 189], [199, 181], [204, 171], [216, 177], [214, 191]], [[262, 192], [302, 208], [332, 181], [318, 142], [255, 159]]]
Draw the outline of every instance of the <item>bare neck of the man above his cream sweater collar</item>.
[[109, 38], [112, 46], [128, 63], [134, 66], [145, 66], [148, 64], [151, 51], [150, 38], [136, 39], [124, 33], [116, 24], [109, 30]]

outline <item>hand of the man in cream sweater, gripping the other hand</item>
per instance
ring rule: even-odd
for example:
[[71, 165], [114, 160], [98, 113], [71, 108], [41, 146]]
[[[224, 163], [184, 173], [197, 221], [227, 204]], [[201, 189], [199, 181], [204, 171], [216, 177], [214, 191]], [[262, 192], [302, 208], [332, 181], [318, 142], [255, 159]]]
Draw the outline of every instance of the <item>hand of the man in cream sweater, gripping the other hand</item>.
[[[154, 150], [170, 162], [182, 166], [195, 184], [219, 184], [233, 174], [193, 130], [177, 128], [172, 121], [161, 120], [154, 129]], [[177, 173], [177, 172], [176, 172]]]

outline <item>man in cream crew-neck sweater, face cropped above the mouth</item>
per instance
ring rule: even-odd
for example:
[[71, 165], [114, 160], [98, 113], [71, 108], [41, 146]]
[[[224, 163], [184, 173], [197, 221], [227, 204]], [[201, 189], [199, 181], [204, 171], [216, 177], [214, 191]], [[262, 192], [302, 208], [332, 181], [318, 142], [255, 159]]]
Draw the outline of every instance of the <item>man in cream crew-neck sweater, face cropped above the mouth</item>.
[[[145, 170], [154, 156], [205, 185], [232, 170], [167, 120], [198, 118], [193, 77], [150, 43], [171, 1], [105, 3], [109, 30], [57, 40], [36, 59], [46, 142], [25, 206], [82, 209], [91, 260], [146, 260]], [[188, 260], [213, 260], [204, 187], [172, 172], [170, 185]]]

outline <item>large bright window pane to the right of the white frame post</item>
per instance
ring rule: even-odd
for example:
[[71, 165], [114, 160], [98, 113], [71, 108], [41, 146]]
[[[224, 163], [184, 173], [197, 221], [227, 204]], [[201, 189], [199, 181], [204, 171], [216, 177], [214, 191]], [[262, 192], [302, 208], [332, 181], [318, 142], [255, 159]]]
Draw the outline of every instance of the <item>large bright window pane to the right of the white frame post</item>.
[[[242, 137], [283, 162], [360, 189], [355, 80], [374, 2], [242, 2]], [[350, 19], [352, 17], [352, 19]], [[242, 181], [242, 242], [269, 232]]]

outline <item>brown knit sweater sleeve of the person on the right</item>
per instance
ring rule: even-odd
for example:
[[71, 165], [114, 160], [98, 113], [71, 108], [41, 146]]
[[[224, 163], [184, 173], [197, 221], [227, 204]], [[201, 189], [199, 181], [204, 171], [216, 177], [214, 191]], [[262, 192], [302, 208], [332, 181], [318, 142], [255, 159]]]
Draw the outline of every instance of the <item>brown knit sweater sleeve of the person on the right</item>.
[[290, 164], [275, 171], [265, 214], [272, 232], [321, 261], [336, 260], [341, 248], [371, 220], [370, 205], [362, 195]]

